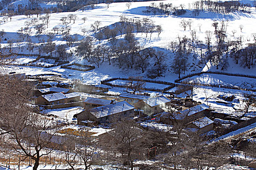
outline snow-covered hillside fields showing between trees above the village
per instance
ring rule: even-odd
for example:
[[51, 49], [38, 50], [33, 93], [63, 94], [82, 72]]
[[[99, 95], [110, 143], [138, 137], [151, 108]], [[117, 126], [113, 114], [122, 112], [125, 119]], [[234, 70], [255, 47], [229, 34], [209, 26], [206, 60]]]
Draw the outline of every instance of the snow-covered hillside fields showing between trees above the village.
[[[21, 0], [22, 1], [22, 0]], [[172, 3], [173, 5], [179, 6], [180, 3], [185, 5], [185, 8], [188, 8], [190, 4], [193, 3], [193, 1], [196, 0], [183, 0], [182, 2], [178, 0], [164, 0], [164, 1], [154, 1], [154, 3], [159, 4], [160, 2], [163, 3]], [[73, 23], [68, 23], [67, 25], [71, 27], [71, 35], [76, 36], [78, 40], [81, 40], [83, 37], [86, 35], [92, 35], [92, 32], [88, 32], [85, 35], [81, 32], [82, 29], [87, 29], [90, 30], [91, 24], [93, 24], [95, 21], [101, 21], [102, 25], [101, 27], [104, 26], [109, 26], [111, 24], [114, 24], [115, 22], [119, 21], [119, 16], [124, 15], [129, 18], [140, 18], [142, 19], [143, 17], [147, 17], [152, 19], [156, 25], [161, 25], [163, 28], [163, 31], [161, 34], [153, 33], [151, 39], [147, 38], [145, 39], [145, 35], [141, 34], [135, 34], [136, 38], [138, 39], [138, 42], [140, 45], [143, 47], [155, 47], [162, 49], [167, 52], [166, 56], [166, 64], [167, 64], [167, 72], [163, 75], [163, 77], [158, 77], [158, 80], [163, 80], [167, 82], [174, 82], [175, 79], [177, 79], [177, 74], [174, 74], [173, 71], [170, 68], [170, 65], [172, 64], [173, 58], [172, 58], [172, 53], [168, 51], [170, 47], [170, 42], [173, 40], [177, 40], [177, 37], [181, 37], [186, 35], [187, 37], [190, 37], [191, 31], [188, 29], [186, 31], [183, 31], [183, 28], [179, 26], [180, 21], [182, 19], [191, 19], [192, 21], [192, 28], [191, 30], [196, 30], [197, 31], [197, 37], [198, 40], [201, 40], [202, 42], [205, 41], [205, 31], [214, 31], [214, 27], [212, 27], [212, 23], [217, 20], [217, 21], [227, 21], [228, 27], [227, 27], [227, 33], [229, 38], [233, 38], [232, 31], [236, 30], [236, 37], [242, 37], [243, 43], [253, 43], [254, 40], [251, 37], [252, 33], [255, 33], [255, 27], [256, 27], [256, 12], [255, 8], [251, 8], [251, 13], [242, 13], [242, 12], [235, 12], [235, 13], [230, 13], [230, 14], [216, 14], [212, 12], [201, 12], [197, 17], [193, 17], [192, 11], [187, 11], [185, 15], [181, 16], [174, 16], [174, 15], [169, 15], [169, 16], [162, 16], [162, 15], [145, 15], [144, 13], [141, 12], [141, 10], [145, 9], [146, 6], [149, 6], [152, 3], [152, 1], [148, 2], [132, 2], [130, 9], [127, 9], [127, 6], [125, 5], [126, 2], [119, 2], [119, 3], [111, 3], [109, 5], [109, 8], [107, 8], [107, 5], [102, 3], [98, 4], [95, 9], [93, 10], [78, 10], [76, 12], [65, 12], [65, 13], [53, 13], [50, 16], [49, 19], [49, 26], [45, 30], [46, 32], [52, 32], [52, 28], [56, 26], [61, 26], [62, 22], [59, 20], [61, 17], [67, 17], [69, 14], [76, 14], [78, 16], [78, 20]], [[48, 6], [51, 4], [47, 4]], [[34, 16], [35, 17], [35, 16]], [[87, 17], [86, 22], [84, 23], [81, 18], [82, 17]], [[17, 34], [17, 31], [21, 27], [25, 27], [25, 23], [27, 21], [30, 21], [32, 18], [27, 18], [26, 16], [14, 16], [12, 18], [12, 21], [7, 21], [6, 23], [1, 23], [0, 25], [0, 30], [3, 29], [6, 34], [4, 35], [8, 39], [13, 39], [14, 44], [13, 44], [13, 49], [16, 52], [20, 52], [18, 45], [16, 41], [18, 42], [19, 37]], [[239, 25], [242, 24], [244, 26], [242, 32], [239, 30]], [[200, 28], [199, 28], [199, 25]], [[39, 37], [35, 36], [35, 29], [32, 29], [32, 37], [31, 40], [34, 43], [38, 43], [39, 40], [41, 39], [47, 39], [46, 35], [40, 35]], [[214, 40], [214, 35], [213, 35], [213, 41]], [[63, 39], [61, 38], [60, 35], [56, 35], [53, 38], [53, 42], [57, 44], [65, 44]], [[105, 40], [103, 43], [106, 42]], [[94, 42], [95, 44], [98, 44], [98, 41]], [[3, 40], [1, 42], [2, 47], [8, 46], [7, 41]], [[22, 45], [24, 47], [22, 47]], [[26, 43], [23, 43], [21, 45], [23, 52], [22, 53], [32, 53], [31, 51], [26, 50]], [[70, 50], [74, 50], [74, 47], [71, 48]], [[34, 49], [33, 53], [39, 53], [38, 49]], [[86, 63], [85, 60], [80, 60], [79, 57], [73, 56], [71, 59], [73, 61], [76, 61], [78, 63]], [[194, 59], [193, 59], [194, 60]], [[27, 59], [20, 59], [20, 63], [25, 63], [28, 62], [29, 60]], [[195, 61], [191, 61], [195, 65], [198, 65], [198, 59]], [[42, 63], [46, 64], [46, 63]], [[86, 63], [90, 64], [90, 63]], [[200, 64], [197, 67], [193, 65], [192, 68], [189, 69], [189, 71], [186, 71], [185, 74], [192, 73], [194, 70], [195, 71], [201, 71], [203, 69], [206, 69], [204, 65]], [[256, 75], [256, 68], [251, 68], [250, 70], [241, 68], [239, 65], [236, 66], [234, 64], [233, 60], [229, 61], [230, 67], [228, 68], [228, 72], [233, 72], [233, 71], [239, 71], [241, 74], [252, 74]], [[192, 66], [192, 65], [191, 65]], [[194, 67], [195, 66], [195, 67]], [[20, 68], [18, 68], [20, 69]], [[216, 67], [210, 67], [210, 70], [215, 70]], [[11, 70], [17, 70], [17, 68], [7, 68], [7, 72]], [[17, 70], [18, 71], [18, 70]], [[80, 79], [83, 80], [85, 84], [94, 84], [97, 85], [100, 83], [100, 80], [111, 78], [111, 77], [128, 77], [128, 76], [145, 76], [145, 73], [140, 73], [138, 70], [134, 69], [127, 69], [127, 68], [118, 68], [118, 66], [115, 65], [108, 65], [107, 61], [103, 62], [100, 64], [99, 68], [96, 68], [91, 71], [87, 72], [82, 72], [82, 71], [76, 71], [76, 70], [70, 70], [70, 69], [64, 69], [60, 67], [54, 67], [50, 69], [44, 69], [44, 68], [23, 68], [23, 70], [20, 70], [20, 72], [26, 72], [28, 75], [34, 75], [36, 72], [57, 72], [57, 74], [62, 74], [63, 76], [66, 76], [70, 79]], [[225, 70], [224, 70], [225, 71]], [[215, 77], [214, 77], [215, 78]], [[219, 78], [220, 79], [220, 78]], [[213, 80], [214, 81], [214, 80]], [[220, 80], [221, 81], [221, 80]], [[253, 82], [251, 82], [251, 85], [253, 85]]]

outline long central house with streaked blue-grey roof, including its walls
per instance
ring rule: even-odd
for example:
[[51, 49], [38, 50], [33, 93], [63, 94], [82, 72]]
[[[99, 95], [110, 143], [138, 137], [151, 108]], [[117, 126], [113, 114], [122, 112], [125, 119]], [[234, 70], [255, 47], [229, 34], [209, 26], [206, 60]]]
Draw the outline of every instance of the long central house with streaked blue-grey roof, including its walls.
[[78, 123], [83, 121], [94, 121], [97, 123], [107, 123], [114, 119], [134, 116], [134, 106], [126, 101], [113, 102], [92, 109], [85, 109], [77, 114]]

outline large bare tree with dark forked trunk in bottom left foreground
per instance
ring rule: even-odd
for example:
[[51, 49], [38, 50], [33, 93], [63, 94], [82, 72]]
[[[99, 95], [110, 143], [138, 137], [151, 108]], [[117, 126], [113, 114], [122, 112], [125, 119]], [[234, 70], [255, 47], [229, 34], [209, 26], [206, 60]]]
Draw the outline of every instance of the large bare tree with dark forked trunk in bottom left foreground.
[[56, 147], [53, 138], [57, 128], [52, 120], [34, 113], [28, 105], [32, 90], [28, 82], [6, 76], [0, 79], [1, 105], [4, 105], [0, 111], [0, 129], [5, 131], [1, 134], [3, 142], [21, 159], [34, 160], [33, 170], [37, 170], [40, 158]]

